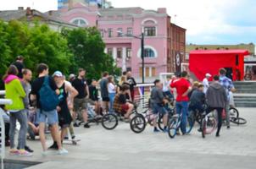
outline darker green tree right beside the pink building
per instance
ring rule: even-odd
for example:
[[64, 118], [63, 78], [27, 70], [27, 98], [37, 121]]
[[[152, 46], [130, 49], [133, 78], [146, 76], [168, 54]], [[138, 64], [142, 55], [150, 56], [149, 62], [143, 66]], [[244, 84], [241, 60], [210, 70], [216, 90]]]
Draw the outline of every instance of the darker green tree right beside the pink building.
[[77, 68], [85, 68], [89, 79], [99, 79], [103, 71], [120, 74], [114, 59], [104, 53], [105, 44], [97, 28], [63, 30], [62, 34], [67, 37], [73, 54], [71, 72], [76, 73]]

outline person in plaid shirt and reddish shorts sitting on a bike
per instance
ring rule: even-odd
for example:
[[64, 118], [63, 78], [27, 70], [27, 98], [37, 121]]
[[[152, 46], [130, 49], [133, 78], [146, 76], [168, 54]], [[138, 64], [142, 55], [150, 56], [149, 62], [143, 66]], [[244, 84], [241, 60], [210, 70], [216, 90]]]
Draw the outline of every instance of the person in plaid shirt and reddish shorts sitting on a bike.
[[127, 101], [126, 95], [130, 93], [129, 85], [121, 85], [120, 91], [114, 97], [114, 111], [118, 113], [124, 113], [126, 119], [129, 119], [133, 110], [133, 105]]

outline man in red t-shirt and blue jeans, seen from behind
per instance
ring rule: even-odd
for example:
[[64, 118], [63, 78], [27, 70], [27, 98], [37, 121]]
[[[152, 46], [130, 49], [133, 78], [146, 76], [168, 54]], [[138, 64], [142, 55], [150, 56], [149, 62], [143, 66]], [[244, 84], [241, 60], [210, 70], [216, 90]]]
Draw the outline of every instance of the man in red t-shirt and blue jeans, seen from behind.
[[190, 86], [190, 82], [188, 81], [188, 74], [186, 71], [181, 73], [181, 79], [173, 79], [171, 84], [171, 88], [175, 88], [177, 92], [176, 97], [176, 112], [182, 115], [181, 118], [181, 132], [182, 134], [186, 134], [186, 118], [188, 114], [188, 93], [192, 90]]

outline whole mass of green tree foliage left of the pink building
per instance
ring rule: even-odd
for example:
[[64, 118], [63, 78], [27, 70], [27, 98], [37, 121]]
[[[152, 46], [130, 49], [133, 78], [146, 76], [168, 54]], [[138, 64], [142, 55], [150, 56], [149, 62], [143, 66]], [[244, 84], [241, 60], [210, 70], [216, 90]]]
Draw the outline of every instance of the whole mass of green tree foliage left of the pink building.
[[19, 55], [25, 57], [25, 67], [32, 71], [38, 63], [47, 63], [50, 73], [74, 74], [78, 68], [86, 68], [89, 79], [99, 79], [103, 71], [119, 75], [120, 68], [103, 52], [104, 47], [95, 27], [59, 33], [38, 22], [0, 20], [0, 77]]

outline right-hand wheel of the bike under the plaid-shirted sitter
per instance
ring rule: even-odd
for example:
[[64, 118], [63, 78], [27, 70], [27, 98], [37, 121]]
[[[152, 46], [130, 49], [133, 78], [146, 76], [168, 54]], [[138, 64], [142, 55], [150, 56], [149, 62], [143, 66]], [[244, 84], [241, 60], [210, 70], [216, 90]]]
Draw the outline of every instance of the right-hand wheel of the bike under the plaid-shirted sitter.
[[146, 128], [145, 117], [143, 117], [141, 114], [137, 114], [131, 119], [130, 128], [131, 131], [136, 134], [142, 133], [142, 131], [144, 131], [144, 129]]

